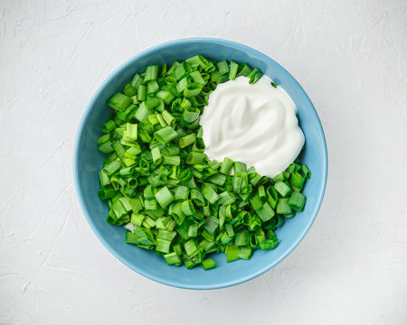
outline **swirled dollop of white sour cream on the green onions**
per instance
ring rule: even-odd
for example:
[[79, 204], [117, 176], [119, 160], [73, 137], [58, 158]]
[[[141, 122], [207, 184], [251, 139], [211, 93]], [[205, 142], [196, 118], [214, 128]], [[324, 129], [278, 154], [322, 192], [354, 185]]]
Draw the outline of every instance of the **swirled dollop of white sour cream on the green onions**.
[[300, 153], [305, 137], [297, 107], [283, 88], [262, 76], [254, 84], [246, 77], [220, 84], [209, 96], [200, 119], [205, 153], [222, 162], [228, 157], [274, 177]]

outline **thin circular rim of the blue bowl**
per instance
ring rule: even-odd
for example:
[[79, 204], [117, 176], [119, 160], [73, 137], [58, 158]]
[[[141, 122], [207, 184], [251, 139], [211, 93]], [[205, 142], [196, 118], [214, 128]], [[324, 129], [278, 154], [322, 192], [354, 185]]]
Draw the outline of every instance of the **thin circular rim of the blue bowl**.
[[[141, 56], [148, 55], [149, 53], [157, 50], [161, 50], [166, 48], [168, 45], [174, 45], [174, 44], [185, 44], [188, 42], [203, 42], [203, 43], [214, 43], [214, 44], [219, 44], [219, 45], [227, 45], [227, 46], [232, 46], [233, 48], [236, 48], [238, 50], [243, 50], [243, 51], [249, 51], [252, 54], [255, 54], [260, 60], [265, 60], [271, 62], [274, 67], [277, 70], [281, 70], [283, 73], [287, 74], [288, 79], [290, 82], [292, 82], [296, 88], [298, 88], [298, 91], [301, 96], [303, 96], [307, 102], [307, 104], [312, 108], [311, 114], [316, 117], [317, 120], [317, 134], [321, 137], [322, 143], [323, 143], [323, 171], [322, 171], [322, 187], [319, 190], [318, 194], [318, 200], [317, 200], [317, 205], [313, 211], [312, 218], [309, 219], [308, 225], [304, 230], [302, 231], [301, 234], [299, 234], [298, 239], [292, 243], [292, 245], [289, 247], [289, 249], [284, 252], [284, 254], [279, 255], [279, 258], [277, 258], [275, 261], [270, 263], [270, 265], [267, 265], [266, 267], [263, 267], [259, 270], [256, 270], [255, 272], [247, 275], [240, 276], [236, 280], [232, 280], [228, 283], [218, 283], [218, 284], [199, 284], [199, 285], [194, 285], [194, 284], [189, 284], [189, 283], [178, 283], [175, 281], [171, 281], [166, 279], [165, 277], [162, 276], [156, 276], [152, 274], [148, 274], [145, 272], [143, 269], [139, 268], [137, 265], [134, 265], [132, 263], [129, 263], [126, 258], [123, 258], [118, 254], [115, 248], [109, 245], [109, 242], [104, 238], [104, 236], [100, 233], [99, 229], [96, 227], [95, 223], [93, 222], [92, 218], [90, 218], [90, 210], [86, 206], [84, 199], [83, 199], [83, 193], [80, 188], [80, 179], [79, 179], [79, 174], [78, 174], [78, 157], [79, 157], [79, 141], [80, 141], [80, 135], [83, 132], [83, 129], [85, 127], [85, 121], [87, 120], [88, 116], [90, 115], [90, 108], [94, 106], [96, 98], [99, 98], [99, 94], [101, 93], [102, 89], [105, 88], [114, 78], [118, 77], [123, 70], [127, 69], [128, 65], [130, 65], [134, 60], [137, 60]], [[169, 42], [163, 42], [160, 44], [157, 44], [155, 46], [152, 46], [148, 48], [147, 50], [140, 51], [138, 52], [135, 56], [132, 58], [128, 59], [125, 61], [123, 64], [121, 64], [117, 69], [115, 69], [112, 73], [110, 73], [109, 77], [105, 79], [102, 84], [99, 86], [98, 90], [95, 92], [95, 94], [92, 96], [90, 99], [90, 102], [88, 106], [85, 109], [85, 112], [83, 116], [80, 118], [80, 124], [78, 127], [78, 131], [76, 133], [76, 138], [75, 138], [75, 143], [74, 143], [74, 152], [73, 152], [73, 174], [74, 174], [74, 183], [75, 183], [75, 189], [76, 193], [78, 196], [78, 200], [80, 201], [80, 208], [83, 211], [83, 214], [85, 215], [85, 218], [87, 219], [90, 228], [92, 228], [93, 232], [96, 234], [96, 236], [99, 238], [100, 242], [108, 248], [109, 252], [114, 255], [118, 260], [123, 263], [124, 265], [127, 265], [130, 269], [133, 271], [136, 271], [138, 274], [144, 275], [150, 280], [156, 281], [158, 283], [163, 283], [169, 286], [174, 286], [177, 288], [183, 288], [183, 289], [193, 289], [193, 290], [209, 290], [209, 289], [220, 289], [220, 288], [226, 288], [232, 285], [240, 284], [247, 282], [251, 279], [254, 279], [255, 277], [259, 276], [260, 274], [264, 274], [276, 265], [279, 265], [279, 263], [284, 260], [291, 252], [299, 245], [299, 243], [304, 239], [304, 237], [308, 234], [309, 229], [311, 228], [312, 224], [314, 223], [315, 219], [317, 218], [317, 213], [321, 207], [322, 200], [324, 199], [324, 194], [327, 188], [327, 169], [328, 169], [328, 157], [327, 157], [327, 142], [324, 134], [324, 130], [321, 125], [321, 121], [319, 119], [319, 116], [317, 115], [317, 111], [312, 104], [311, 100], [308, 98], [307, 93], [305, 90], [299, 85], [298, 81], [289, 73], [288, 70], [284, 69], [278, 62], [275, 60], [272, 60], [269, 56], [263, 54], [260, 51], [257, 51], [250, 46], [241, 44], [239, 42], [232, 42], [229, 40], [224, 40], [224, 39], [219, 39], [219, 38], [212, 38], [212, 37], [192, 37], [192, 38], [183, 38], [183, 39], [178, 39], [178, 40], [173, 40]]]

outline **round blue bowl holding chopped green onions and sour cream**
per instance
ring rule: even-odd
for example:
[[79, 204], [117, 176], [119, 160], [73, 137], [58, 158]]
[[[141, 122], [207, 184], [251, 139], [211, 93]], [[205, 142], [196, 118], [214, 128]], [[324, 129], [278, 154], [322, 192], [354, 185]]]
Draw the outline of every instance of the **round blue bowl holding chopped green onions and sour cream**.
[[[106, 222], [108, 206], [99, 200], [99, 169], [104, 156], [99, 153], [96, 141], [101, 135], [100, 125], [111, 113], [106, 105], [109, 98], [124, 86], [136, 72], [151, 64], [172, 63], [196, 54], [214, 60], [236, 60], [259, 68], [264, 74], [284, 88], [298, 107], [300, 126], [306, 136], [306, 149], [302, 162], [307, 163], [312, 178], [307, 182], [304, 194], [307, 204], [295, 218], [287, 220], [277, 230], [279, 246], [271, 251], [256, 251], [250, 261], [226, 263], [223, 254], [213, 255], [218, 265], [210, 271], [201, 267], [187, 270], [185, 266], [166, 265], [164, 258], [152, 251], [125, 243], [125, 229]], [[121, 262], [138, 274], [159, 283], [188, 289], [215, 289], [251, 280], [278, 265], [298, 246], [308, 232], [321, 205], [327, 183], [327, 144], [317, 112], [305, 91], [287, 70], [268, 56], [237, 42], [210, 38], [184, 39], [166, 42], [137, 54], [118, 68], [99, 88], [81, 119], [74, 149], [74, 178], [80, 205], [90, 227], [100, 241]]]

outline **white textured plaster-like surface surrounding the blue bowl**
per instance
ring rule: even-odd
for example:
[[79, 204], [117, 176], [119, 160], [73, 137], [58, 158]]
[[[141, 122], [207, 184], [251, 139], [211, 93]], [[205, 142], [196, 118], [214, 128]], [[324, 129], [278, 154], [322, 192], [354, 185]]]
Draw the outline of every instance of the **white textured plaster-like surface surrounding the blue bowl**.
[[[308, 236], [249, 283], [188, 291], [109, 254], [73, 143], [108, 75], [160, 42], [242, 42], [289, 70], [327, 136]], [[0, 324], [407, 323], [407, 2], [0, 1]]]

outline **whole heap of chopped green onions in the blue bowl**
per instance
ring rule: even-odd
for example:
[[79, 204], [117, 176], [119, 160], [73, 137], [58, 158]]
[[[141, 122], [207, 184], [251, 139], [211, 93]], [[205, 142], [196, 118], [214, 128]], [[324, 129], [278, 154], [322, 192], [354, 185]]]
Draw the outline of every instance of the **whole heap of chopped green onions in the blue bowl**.
[[168, 265], [207, 270], [216, 266], [205, 257], [213, 252], [228, 262], [251, 259], [277, 247], [273, 230], [304, 209], [311, 173], [299, 158], [270, 180], [205, 154], [204, 106], [219, 84], [241, 76], [255, 83], [262, 72], [195, 55], [169, 69], [148, 66], [109, 99], [114, 111], [96, 141], [106, 155], [99, 199], [108, 203], [107, 221], [128, 230], [128, 244], [155, 249]]

